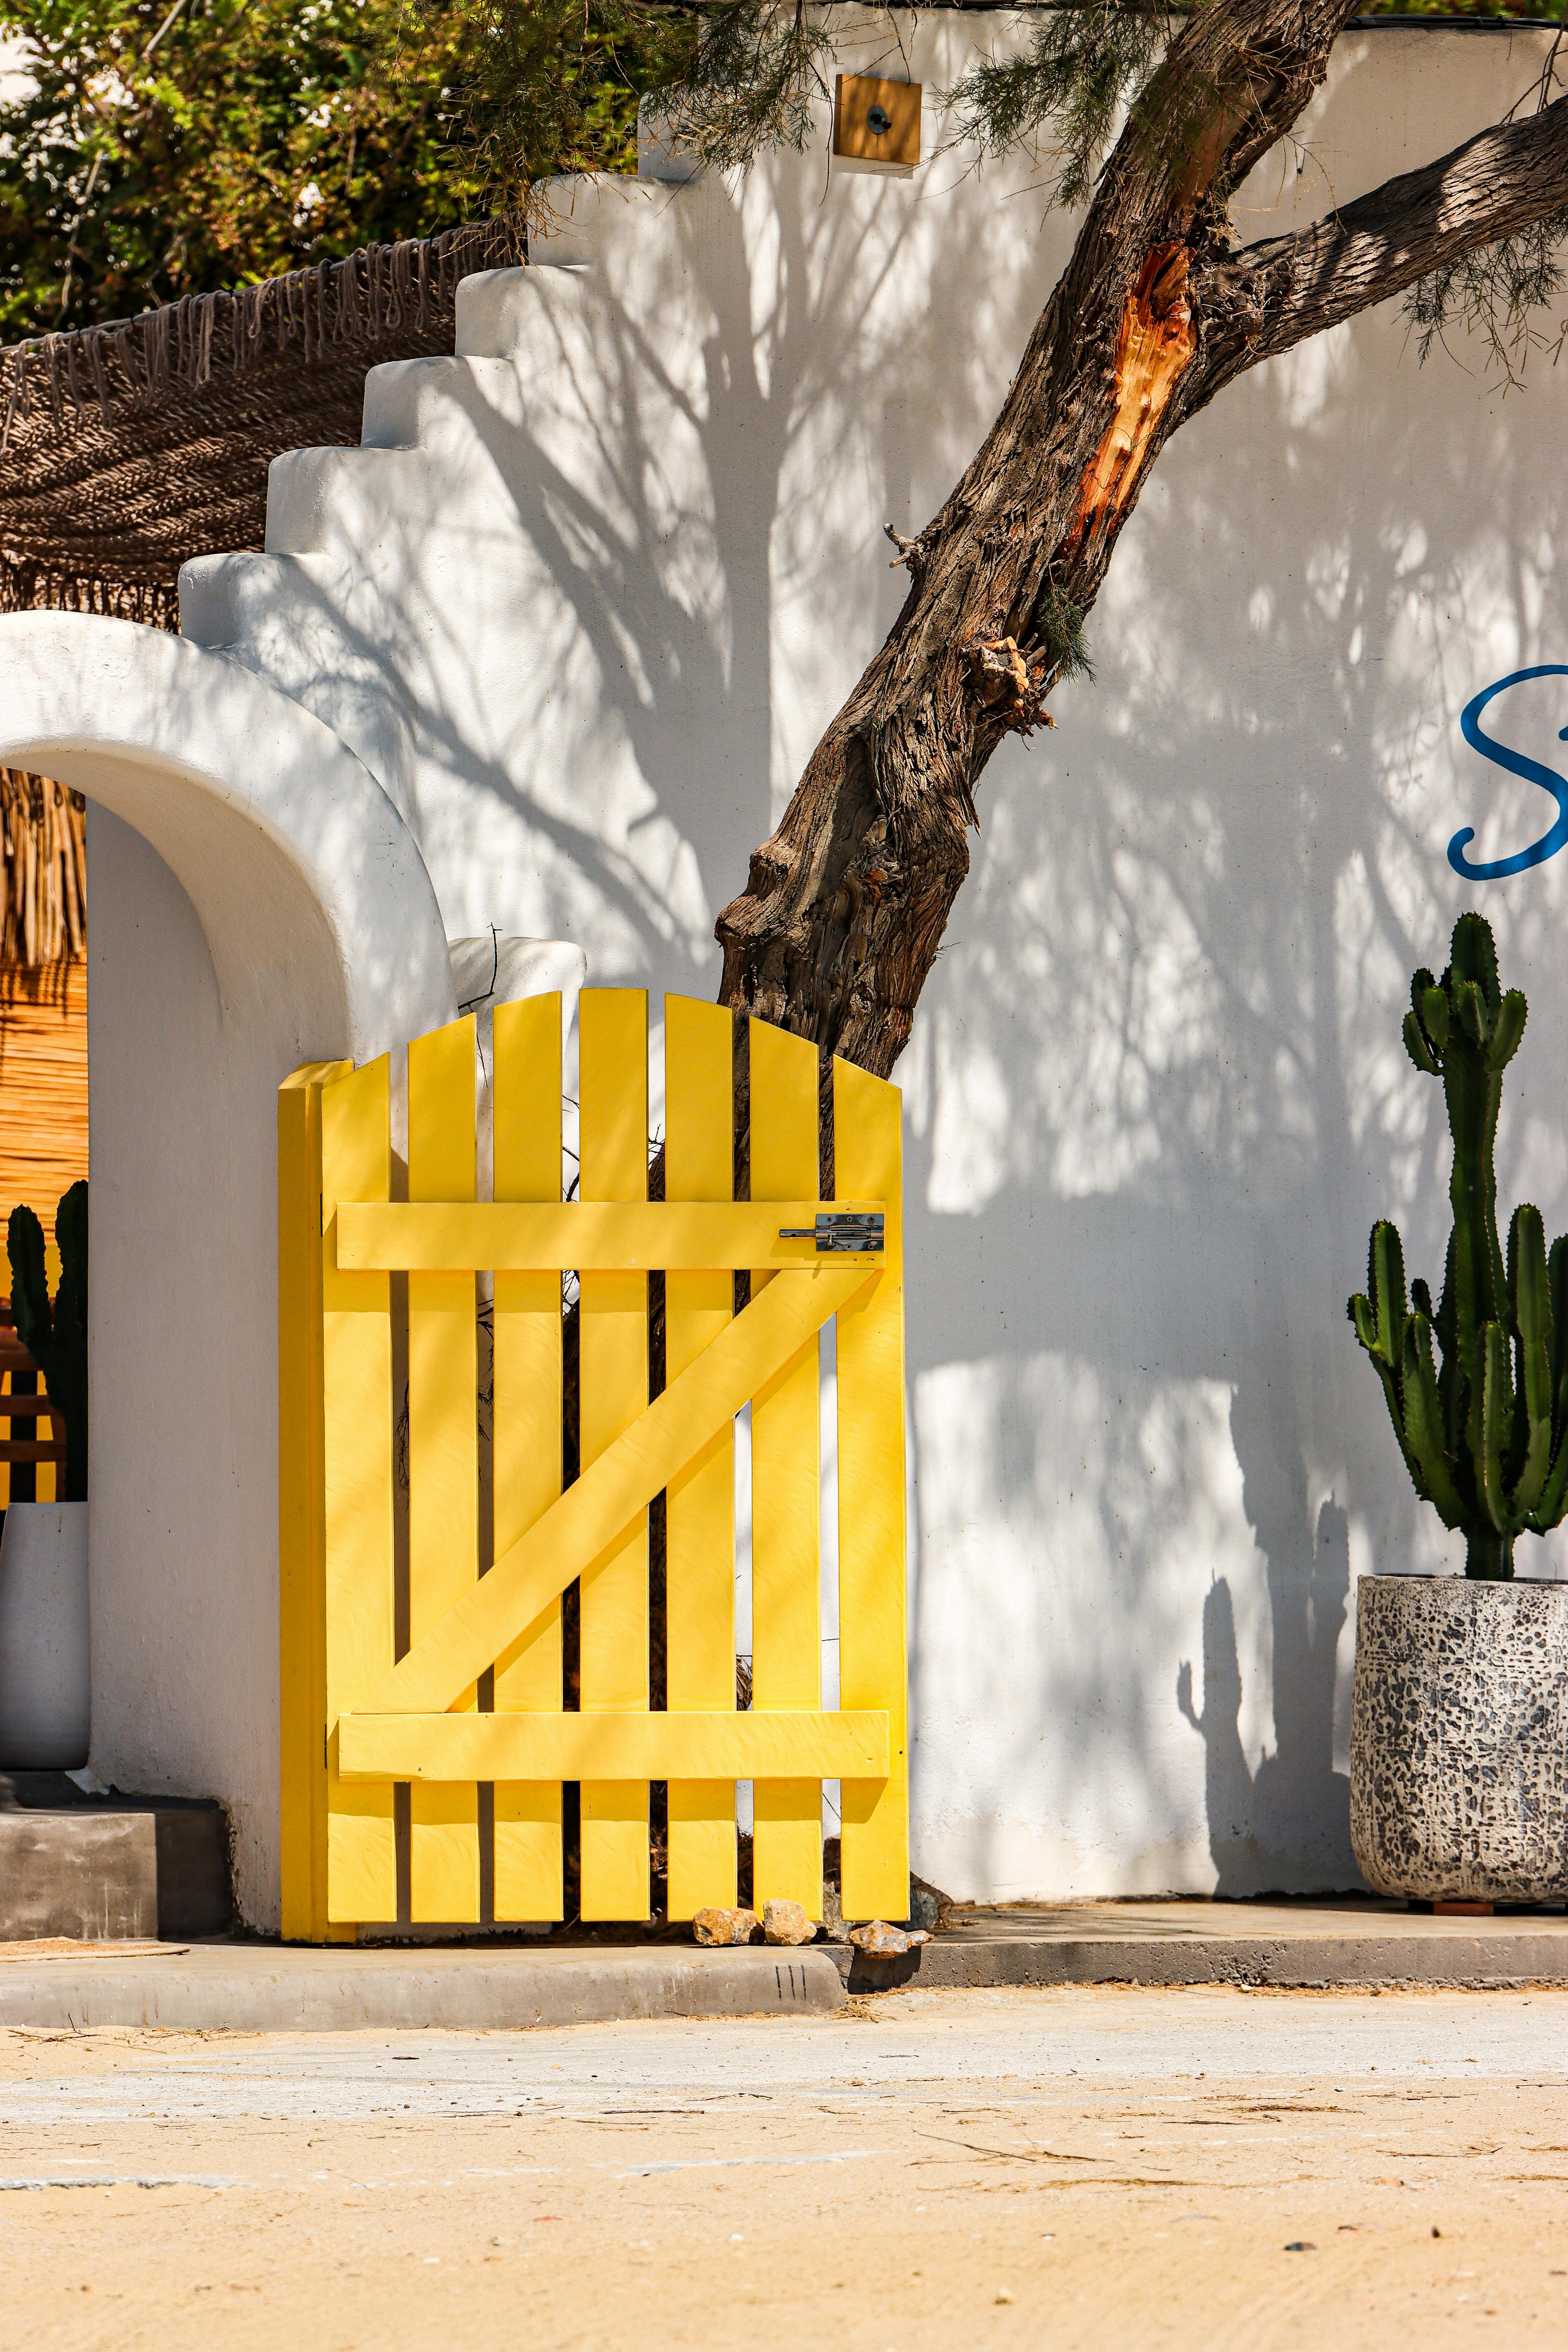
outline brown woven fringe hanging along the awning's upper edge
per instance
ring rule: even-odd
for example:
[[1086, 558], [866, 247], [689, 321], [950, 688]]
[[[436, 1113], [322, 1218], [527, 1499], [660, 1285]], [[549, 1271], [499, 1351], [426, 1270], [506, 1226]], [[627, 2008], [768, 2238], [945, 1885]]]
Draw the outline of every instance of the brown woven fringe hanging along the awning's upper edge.
[[103, 426], [127, 402], [148, 402], [176, 388], [212, 383], [223, 360], [244, 376], [263, 360], [268, 341], [284, 353], [303, 346], [306, 360], [353, 343], [378, 343], [409, 327], [421, 332], [428, 310], [451, 301], [458, 278], [524, 259], [520, 216], [473, 221], [440, 238], [364, 245], [343, 261], [266, 278], [233, 294], [186, 294], [162, 310], [40, 334], [0, 350], [0, 454], [35, 402], [63, 426], [96, 409]]

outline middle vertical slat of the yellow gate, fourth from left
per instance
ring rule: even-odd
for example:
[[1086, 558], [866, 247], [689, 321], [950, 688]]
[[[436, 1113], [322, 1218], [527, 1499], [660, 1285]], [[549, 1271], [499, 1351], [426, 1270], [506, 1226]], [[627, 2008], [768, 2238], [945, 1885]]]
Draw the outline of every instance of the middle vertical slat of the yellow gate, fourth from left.
[[[578, 1152], [583, 1200], [646, 1200], [649, 997], [595, 988], [578, 1009]], [[649, 1277], [583, 1275], [578, 1322], [583, 1470], [649, 1402]], [[649, 1703], [649, 1515], [581, 1578], [583, 1712]], [[646, 1780], [583, 1783], [583, 1919], [649, 1915]]]

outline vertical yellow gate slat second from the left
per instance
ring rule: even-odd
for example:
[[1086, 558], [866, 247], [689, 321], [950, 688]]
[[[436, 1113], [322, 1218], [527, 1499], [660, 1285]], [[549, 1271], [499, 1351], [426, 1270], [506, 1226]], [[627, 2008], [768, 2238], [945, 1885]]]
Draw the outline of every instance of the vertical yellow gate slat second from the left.
[[[409, 1047], [409, 1200], [475, 1197], [475, 1023]], [[409, 1642], [480, 1573], [480, 1385], [473, 1275], [409, 1275]], [[475, 1689], [461, 1708], [475, 1705]], [[480, 1790], [421, 1783], [411, 1802], [416, 1922], [480, 1917]]]

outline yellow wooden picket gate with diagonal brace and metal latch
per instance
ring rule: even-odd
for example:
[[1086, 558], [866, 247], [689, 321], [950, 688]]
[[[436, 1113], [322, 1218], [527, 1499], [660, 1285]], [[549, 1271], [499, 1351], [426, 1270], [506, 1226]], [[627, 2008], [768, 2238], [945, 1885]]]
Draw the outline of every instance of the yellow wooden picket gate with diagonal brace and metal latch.
[[[665, 1200], [651, 1202], [646, 993], [599, 988], [578, 1002], [569, 1202], [559, 997], [496, 1007], [489, 1202], [477, 1200], [473, 1018], [409, 1047], [407, 1183], [386, 1056], [362, 1070], [313, 1063], [280, 1091], [292, 1938], [397, 1919], [400, 1865], [409, 1922], [559, 1919], [562, 1783], [581, 1785], [583, 1919], [649, 1915], [651, 1780], [668, 1783], [672, 1919], [736, 1900], [736, 1780], [755, 1792], [757, 1905], [790, 1896], [820, 1917], [823, 1780], [839, 1780], [844, 1912], [907, 1912], [898, 1091], [835, 1061], [835, 1200], [823, 1202], [816, 1047], [750, 1021], [750, 1200], [736, 1202], [733, 1018], [665, 997]], [[562, 1270], [581, 1284], [581, 1475], [564, 1491]], [[651, 1270], [665, 1272], [654, 1399]], [[736, 1270], [750, 1272], [738, 1315]], [[484, 1482], [480, 1272], [494, 1275]], [[842, 1703], [830, 1712], [818, 1331], [832, 1317]], [[745, 1404], [752, 1705], [738, 1710], [733, 1425]], [[651, 1712], [649, 1505], [661, 1494], [668, 1712]], [[576, 1710], [562, 1677], [571, 1583]]]

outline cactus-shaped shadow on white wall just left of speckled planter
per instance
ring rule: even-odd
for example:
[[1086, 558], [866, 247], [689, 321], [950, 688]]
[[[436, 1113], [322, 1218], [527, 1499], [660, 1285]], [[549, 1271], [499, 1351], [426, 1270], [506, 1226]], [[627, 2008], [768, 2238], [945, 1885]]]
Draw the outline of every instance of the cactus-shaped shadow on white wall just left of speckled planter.
[[[1204, 1712], [1192, 1703], [1192, 1665], [1175, 1677], [1175, 1705], [1204, 1738], [1204, 1804], [1218, 1896], [1359, 1889], [1349, 1844], [1349, 1780], [1333, 1769], [1335, 1653], [1349, 1604], [1349, 1526], [1338, 1503], [1316, 1517], [1312, 1564], [1274, 1597], [1274, 1750], [1258, 1771], [1241, 1745], [1241, 1665], [1229, 1585], [1204, 1599]], [[1284, 1606], [1281, 1606], [1284, 1602]]]

